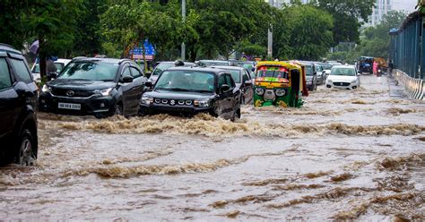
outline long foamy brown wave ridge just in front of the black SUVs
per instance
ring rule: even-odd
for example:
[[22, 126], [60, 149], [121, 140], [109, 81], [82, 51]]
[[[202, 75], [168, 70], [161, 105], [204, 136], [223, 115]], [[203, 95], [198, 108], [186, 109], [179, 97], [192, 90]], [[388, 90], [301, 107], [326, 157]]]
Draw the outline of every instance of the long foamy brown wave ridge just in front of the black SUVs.
[[196, 115], [192, 119], [170, 115], [153, 115], [150, 117], [134, 117], [126, 119], [114, 116], [103, 120], [82, 122], [50, 122], [47, 127], [75, 131], [92, 131], [106, 133], [185, 133], [217, 136], [286, 136], [299, 137], [308, 135], [347, 134], [361, 136], [377, 135], [412, 135], [425, 131], [425, 126], [416, 124], [388, 125], [348, 125], [332, 124], [260, 124], [255, 121], [241, 120], [232, 123], [211, 115]]

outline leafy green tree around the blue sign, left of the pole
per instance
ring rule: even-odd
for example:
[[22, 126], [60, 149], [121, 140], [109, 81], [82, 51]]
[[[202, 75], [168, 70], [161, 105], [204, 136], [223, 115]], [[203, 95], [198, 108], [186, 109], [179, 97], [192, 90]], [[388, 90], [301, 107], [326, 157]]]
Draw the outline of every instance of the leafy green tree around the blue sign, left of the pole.
[[142, 0], [113, 3], [101, 15], [102, 30], [109, 41], [125, 47], [125, 57], [144, 39], [149, 39], [160, 54], [166, 55], [167, 49], [197, 38], [192, 28], [197, 16], [190, 11], [183, 22], [178, 8], [177, 0], [168, 3]]

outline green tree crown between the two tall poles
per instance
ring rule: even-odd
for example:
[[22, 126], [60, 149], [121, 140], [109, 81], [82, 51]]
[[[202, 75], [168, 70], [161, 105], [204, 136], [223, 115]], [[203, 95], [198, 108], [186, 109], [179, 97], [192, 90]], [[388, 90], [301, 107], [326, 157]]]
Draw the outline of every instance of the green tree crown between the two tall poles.
[[189, 1], [188, 5], [199, 14], [195, 30], [199, 33], [196, 42], [189, 42], [189, 55], [212, 58], [215, 55], [229, 57], [240, 50], [254, 33], [268, 28], [271, 8], [264, 1], [257, 0], [204, 0]]

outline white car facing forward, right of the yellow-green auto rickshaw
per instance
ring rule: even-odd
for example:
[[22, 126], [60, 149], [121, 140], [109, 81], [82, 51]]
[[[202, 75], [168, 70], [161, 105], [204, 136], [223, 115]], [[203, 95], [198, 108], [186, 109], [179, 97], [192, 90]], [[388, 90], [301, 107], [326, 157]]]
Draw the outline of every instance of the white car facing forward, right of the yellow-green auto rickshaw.
[[335, 65], [326, 79], [326, 88], [355, 90], [360, 87], [360, 77], [353, 65]]

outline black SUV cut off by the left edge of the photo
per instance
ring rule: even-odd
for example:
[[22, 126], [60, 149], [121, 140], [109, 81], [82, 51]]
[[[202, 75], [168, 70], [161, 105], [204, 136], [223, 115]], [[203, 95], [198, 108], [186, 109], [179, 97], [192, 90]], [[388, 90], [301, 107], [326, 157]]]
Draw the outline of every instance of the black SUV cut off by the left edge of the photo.
[[37, 85], [20, 51], [0, 44], [0, 162], [37, 159]]

